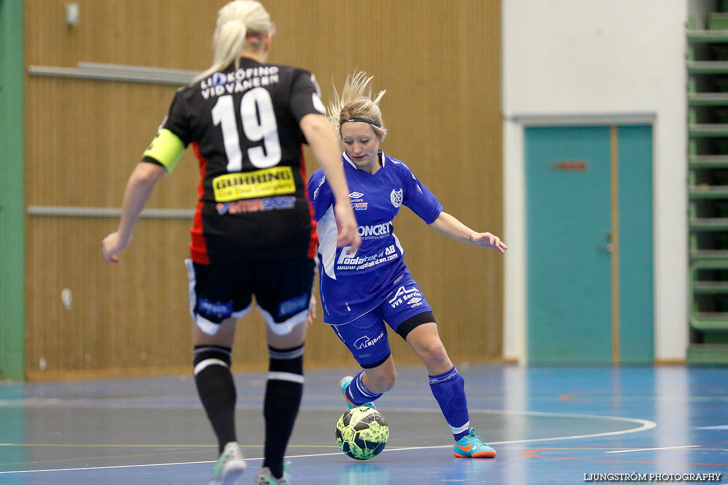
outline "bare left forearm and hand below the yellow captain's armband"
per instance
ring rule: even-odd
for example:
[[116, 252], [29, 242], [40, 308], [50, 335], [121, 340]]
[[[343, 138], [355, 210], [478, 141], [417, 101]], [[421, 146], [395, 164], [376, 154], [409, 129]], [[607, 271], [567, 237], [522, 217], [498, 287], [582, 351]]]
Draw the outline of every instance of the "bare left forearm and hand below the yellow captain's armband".
[[119, 221], [119, 228], [116, 232], [109, 234], [103, 239], [101, 249], [103, 257], [108, 262], [119, 262], [117, 254], [129, 246], [132, 241], [132, 231], [139, 219], [146, 201], [151, 196], [154, 185], [157, 185], [167, 173], [167, 169], [161, 165], [151, 164], [147, 161], [140, 161], [132, 171], [132, 175], [124, 189], [122, 201], [122, 219]]

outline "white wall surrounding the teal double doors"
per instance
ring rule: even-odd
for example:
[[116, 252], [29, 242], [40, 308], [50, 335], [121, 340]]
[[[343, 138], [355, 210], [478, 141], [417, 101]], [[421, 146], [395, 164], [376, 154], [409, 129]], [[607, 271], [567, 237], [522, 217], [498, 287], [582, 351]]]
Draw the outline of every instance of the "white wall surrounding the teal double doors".
[[544, 117], [654, 119], [655, 359], [684, 359], [687, 0], [502, 0], [502, 17], [504, 357], [526, 358], [523, 126]]

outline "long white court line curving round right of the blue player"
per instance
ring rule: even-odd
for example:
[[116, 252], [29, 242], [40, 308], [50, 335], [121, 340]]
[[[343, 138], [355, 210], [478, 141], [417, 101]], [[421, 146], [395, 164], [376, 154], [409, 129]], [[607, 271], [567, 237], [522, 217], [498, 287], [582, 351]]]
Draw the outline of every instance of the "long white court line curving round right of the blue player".
[[[392, 409], [395, 411], [396, 409]], [[409, 411], [409, 409], [408, 409]], [[592, 416], [590, 414], [558, 414], [552, 412], [530, 412], [530, 411], [491, 411], [491, 410], [475, 410], [470, 411], [470, 414], [528, 414], [533, 416], [555, 416], [555, 417], [579, 417], [589, 418], [593, 420], [612, 420], [612, 421], [626, 421], [635, 422], [640, 426], [637, 428], [630, 428], [628, 430], [621, 431], [606, 431], [604, 433], [593, 433], [587, 435], [574, 435], [574, 436], [556, 436], [553, 438], [529, 438], [511, 441], [491, 441], [490, 444], [514, 444], [514, 443], [529, 443], [529, 442], [540, 442], [540, 441], [555, 441], [563, 439], [579, 439], [579, 438], [596, 438], [598, 436], [614, 436], [627, 433], [637, 433], [638, 431], [650, 430], [657, 426], [657, 423], [649, 420], [639, 420], [632, 417], [615, 417], [615, 416]], [[438, 449], [438, 448], [451, 448], [451, 444], [438, 445], [438, 446], [412, 446], [409, 448], [392, 448], [384, 449], [384, 452], [403, 452], [412, 449]], [[698, 446], [698, 445], [695, 445]], [[632, 451], [632, 450], [629, 450]], [[634, 450], [636, 451], [636, 450]], [[286, 456], [286, 458], [309, 458], [309, 457], [329, 457], [339, 455], [341, 452], [334, 453], [314, 453], [314, 454], [295, 454]], [[246, 458], [245, 461], [263, 460], [263, 458]], [[111, 470], [114, 468], [143, 468], [143, 467], [161, 467], [161, 466], [172, 466], [172, 465], [199, 465], [203, 463], [216, 463], [216, 461], [204, 461], [204, 462], [179, 462], [179, 463], [149, 463], [148, 465], [114, 465], [107, 467], [87, 467], [87, 468], [58, 468], [55, 470], [15, 470], [15, 471], [0, 471], [0, 475], [7, 475], [10, 473], [40, 473], [40, 472], [58, 472], [58, 471], [79, 471], [79, 470]]]

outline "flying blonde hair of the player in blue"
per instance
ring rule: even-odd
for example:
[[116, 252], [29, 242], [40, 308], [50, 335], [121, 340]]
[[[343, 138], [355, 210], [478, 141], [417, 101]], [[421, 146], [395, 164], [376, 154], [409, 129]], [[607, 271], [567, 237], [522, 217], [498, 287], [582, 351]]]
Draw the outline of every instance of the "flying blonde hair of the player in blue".
[[352, 118], [369, 121], [380, 142], [387, 135], [379, 109], [379, 100], [387, 90], [380, 91], [374, 99], [371, 99], [372, 79], [374, 76], [367, 77], [365, 72], [359, 71], [347, 76], [341, 95], [336, 91], [336, 86], [333, 87], [333, 100], [329, 103], [326, 113], [339, 136], [341, 136], [341, 123]]

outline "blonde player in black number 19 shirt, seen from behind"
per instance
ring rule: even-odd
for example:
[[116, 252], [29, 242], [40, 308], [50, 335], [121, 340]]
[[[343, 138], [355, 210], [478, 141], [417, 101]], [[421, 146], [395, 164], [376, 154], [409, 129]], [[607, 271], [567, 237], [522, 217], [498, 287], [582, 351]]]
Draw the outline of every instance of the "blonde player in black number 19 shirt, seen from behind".
[[257, 1], [220, 9], [212, 67], [175, 95], [127, 183], [119, 229], [103, 240], [106, 259], [118, 262], [154, 185], [191, 144], [201, 180], [187, 260], [194, 377], [220, 451], [210, 485], [233, 484], [245, 469], [230, 353], [237, 318], [250, 311], [252, 294], [267, 324], [270, 354], [265, 460], [255, 483], [288, 484], [283, 455], [301, 402], [316, 243], [301, 143], [311, 145], [333, 188], [335, 244], [360, 244], [318, 86], [308, 71], [266, 63], [273, 31]]

